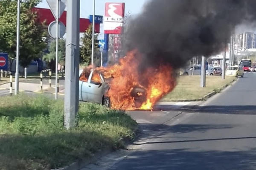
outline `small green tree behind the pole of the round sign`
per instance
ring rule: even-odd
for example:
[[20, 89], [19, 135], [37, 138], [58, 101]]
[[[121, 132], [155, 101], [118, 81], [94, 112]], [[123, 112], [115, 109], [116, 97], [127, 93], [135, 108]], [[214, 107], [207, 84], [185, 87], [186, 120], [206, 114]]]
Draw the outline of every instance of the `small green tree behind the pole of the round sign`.
[[[46, 62], [50, 69], [55, 70], [56, 61], [56, 39], [50, 42], [49, 54], [44, 55]], [[61, 65], [65, 65], [65, 51], [66, 51], [66, 41], [64, 39], [58, 40], [58, 62]]]

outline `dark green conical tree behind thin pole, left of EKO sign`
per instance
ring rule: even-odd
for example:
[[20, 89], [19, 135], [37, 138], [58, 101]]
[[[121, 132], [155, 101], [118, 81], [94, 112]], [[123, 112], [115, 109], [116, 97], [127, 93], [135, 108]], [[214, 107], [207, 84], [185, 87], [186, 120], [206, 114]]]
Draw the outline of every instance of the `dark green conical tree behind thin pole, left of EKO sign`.
[[[83, 42], [82, 47], [80, 48], [80, 63], [90, 65], [91, 56], [92, 56], [92, 38], [93, 38], [93, 26], [92, 24], [84, 32], [81, 41]], [[98, 35], [94, 35], [94, 56], [95, 63], [99, 60], [99, 40]], [[98, 65], [98, 64], [96, 64]]]

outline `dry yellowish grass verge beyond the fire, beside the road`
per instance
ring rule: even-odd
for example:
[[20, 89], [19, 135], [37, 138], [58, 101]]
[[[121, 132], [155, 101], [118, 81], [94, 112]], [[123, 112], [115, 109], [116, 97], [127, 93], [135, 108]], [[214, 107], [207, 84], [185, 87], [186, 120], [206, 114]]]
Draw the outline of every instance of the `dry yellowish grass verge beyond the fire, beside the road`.
[[208, 93], [221, 88], [221, 86], [233, 82], [235, 77], [207, 76], [206, 88], [200, 87], [200, 76], [181, 76], [177, 79], [177, 86], [174, 91], [167, 94], [161, 102], [171, 102], [178, 99], [199, 99]]

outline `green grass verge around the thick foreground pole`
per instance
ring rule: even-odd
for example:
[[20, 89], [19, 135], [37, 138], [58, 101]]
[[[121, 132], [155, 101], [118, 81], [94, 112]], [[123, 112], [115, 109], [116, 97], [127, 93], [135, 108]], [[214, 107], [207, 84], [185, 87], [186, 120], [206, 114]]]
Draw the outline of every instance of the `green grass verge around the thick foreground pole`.
[[78, 126], [63, 127], [63, 102], [44, 96], [0, 98], [0, 170], [63, 167], [103, 150], [123, 146], [137, 124], [122, 111], [79, 105]]

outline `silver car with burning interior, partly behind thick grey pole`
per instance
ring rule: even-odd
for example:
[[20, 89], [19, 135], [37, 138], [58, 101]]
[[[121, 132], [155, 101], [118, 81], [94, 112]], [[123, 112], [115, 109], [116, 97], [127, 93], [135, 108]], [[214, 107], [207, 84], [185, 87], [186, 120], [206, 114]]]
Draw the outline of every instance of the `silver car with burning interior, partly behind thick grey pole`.
[[95, 102], [110, 107], [110, 99], [105, 96], [109, 89], [108, 83], [102, 74], [93, 70], [90, 75], [82, 74], [79, 71], [79, 100], [84, 102]]

